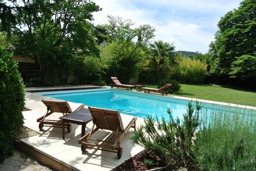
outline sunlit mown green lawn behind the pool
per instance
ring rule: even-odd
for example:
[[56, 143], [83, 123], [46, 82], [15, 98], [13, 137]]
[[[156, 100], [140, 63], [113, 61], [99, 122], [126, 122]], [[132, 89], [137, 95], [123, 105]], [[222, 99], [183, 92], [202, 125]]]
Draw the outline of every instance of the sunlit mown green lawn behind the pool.
[[[239, 105], [248, 105], [256, 107], [256, 92], [241, 91], [237, 89], [221, 87], [220, 85], [188, 85], [180, 84], [180, 93], [175, 96], [183, 96], [188, 98], [199, 98], [204, 100], [222, 101], [227, 103], [235, 103]], [[147, 85], [148, 87], [156, 87]]]

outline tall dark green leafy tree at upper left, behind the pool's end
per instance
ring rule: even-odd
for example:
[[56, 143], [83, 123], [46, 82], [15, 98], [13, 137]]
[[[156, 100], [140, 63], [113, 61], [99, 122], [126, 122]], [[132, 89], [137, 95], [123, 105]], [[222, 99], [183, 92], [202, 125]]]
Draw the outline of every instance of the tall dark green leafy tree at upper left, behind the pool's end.
[[100, 8], [86, 0], [10, 1], [17, 24], [11, 30], [16, 53], [41, 64], [46, 77], [56, 69], [67, 77], [73, 56], [99, 56], [93, 37], [92, 12]]

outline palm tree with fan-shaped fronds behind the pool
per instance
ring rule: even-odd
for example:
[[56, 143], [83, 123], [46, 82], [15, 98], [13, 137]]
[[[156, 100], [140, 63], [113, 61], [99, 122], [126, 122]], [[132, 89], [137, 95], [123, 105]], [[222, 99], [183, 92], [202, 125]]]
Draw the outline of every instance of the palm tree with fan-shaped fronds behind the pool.
[[157, 86], [161, 87], [164, 70], [175, 62], [175, 47], [161, 40], [150, 43], [150, 65], [157, 70]]

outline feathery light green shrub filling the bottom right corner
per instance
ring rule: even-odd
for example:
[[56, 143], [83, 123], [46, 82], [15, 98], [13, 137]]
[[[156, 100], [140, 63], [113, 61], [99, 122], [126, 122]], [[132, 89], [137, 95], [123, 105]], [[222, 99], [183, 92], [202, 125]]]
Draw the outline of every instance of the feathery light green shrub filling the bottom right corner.
[[256, 170], [255, 111], [204, 114], [193, 152], [198, 170]]

